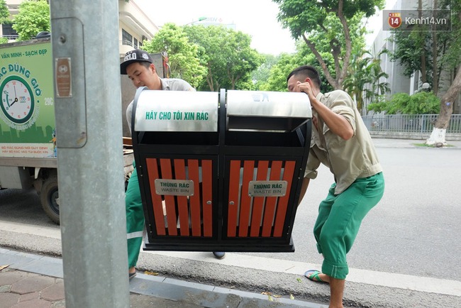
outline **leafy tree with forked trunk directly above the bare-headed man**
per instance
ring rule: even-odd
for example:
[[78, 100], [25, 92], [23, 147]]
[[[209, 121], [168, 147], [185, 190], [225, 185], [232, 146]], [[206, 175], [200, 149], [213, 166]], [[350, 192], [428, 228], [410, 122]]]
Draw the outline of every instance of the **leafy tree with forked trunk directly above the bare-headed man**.
[[[328, 82], [343, 87], [352, 46], [364, 44], [362, 17], [374, 14], [384, 0], [272, 0], [279, 4], [279, 21], [294, 39], [302, 38], [316, 56]], [[333, 57], [334, 75], [322, 53]]]

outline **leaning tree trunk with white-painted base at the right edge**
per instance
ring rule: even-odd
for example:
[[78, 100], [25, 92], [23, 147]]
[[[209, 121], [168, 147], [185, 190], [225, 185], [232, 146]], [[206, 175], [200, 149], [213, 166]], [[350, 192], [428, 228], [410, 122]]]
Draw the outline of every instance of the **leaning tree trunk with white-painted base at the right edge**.
[[448, 128], [448, 123], [453, 112], [453, 103], [461, 92], [461, 65], [458, 67], [455, 79], [448, 88], [447, 93], [442, 97], [440, 102], [440, 114], [437, 121], [435, 121], [431, 137], [426, 140], [428, 145], [446, 145], [445, 133]]

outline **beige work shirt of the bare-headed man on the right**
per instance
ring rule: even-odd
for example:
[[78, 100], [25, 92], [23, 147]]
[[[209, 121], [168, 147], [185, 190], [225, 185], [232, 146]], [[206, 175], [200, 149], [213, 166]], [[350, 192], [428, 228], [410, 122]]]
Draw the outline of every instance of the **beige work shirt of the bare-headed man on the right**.
[[357, 178], [375, 175], [382, 171], [382, 167], [370, 133], [350, 96], [344, 91], [335, 90], [326, 94], [319, 93], [316, 99], [335, 114], [344, 116], [352, 126], [354, 135], [345, 141], [332, 133], [323, 119], [313, 111], [318, 129], [312, 126], [311, 150], [304, 177], [315, 179], [317, 168], [323, 163], [335, 177], [335, 194], [340, 194]]

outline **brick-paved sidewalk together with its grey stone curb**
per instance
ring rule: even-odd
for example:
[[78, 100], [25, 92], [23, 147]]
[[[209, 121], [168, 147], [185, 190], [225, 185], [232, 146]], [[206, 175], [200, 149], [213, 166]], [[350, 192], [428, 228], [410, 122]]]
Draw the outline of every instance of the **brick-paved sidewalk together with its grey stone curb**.
[[[270, 297], [142, 273], [130, 282], [130, 305], [133, 308], [328, 307], [327, 304]], [[62, 307], [65, 307], [65, 290], [60, 258], [0, 248], [0, 308]]]

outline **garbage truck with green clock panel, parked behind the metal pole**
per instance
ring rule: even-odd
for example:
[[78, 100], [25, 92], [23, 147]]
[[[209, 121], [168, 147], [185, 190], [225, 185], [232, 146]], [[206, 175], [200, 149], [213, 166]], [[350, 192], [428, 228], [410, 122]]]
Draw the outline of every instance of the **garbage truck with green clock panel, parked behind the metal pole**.
[[[0, 189], [35, 187], [43, 210], [59, 224], [51, 40], [1, 44], [0, 59]], [[123, 143], [127, 181], [134, 158], [130, 138]]]

